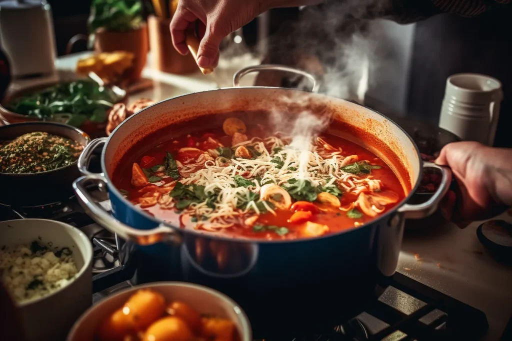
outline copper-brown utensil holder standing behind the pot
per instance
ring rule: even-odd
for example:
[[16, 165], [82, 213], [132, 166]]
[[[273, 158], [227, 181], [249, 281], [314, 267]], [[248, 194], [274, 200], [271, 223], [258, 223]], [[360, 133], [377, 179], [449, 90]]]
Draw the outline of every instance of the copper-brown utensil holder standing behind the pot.
[[170, 74], [189, 74], [199, 70], [191, 54], [182, 56], [175, 50], [169, 31], [170, 19], [154, 15], [147, 18], [150, 31], [151, 67]]

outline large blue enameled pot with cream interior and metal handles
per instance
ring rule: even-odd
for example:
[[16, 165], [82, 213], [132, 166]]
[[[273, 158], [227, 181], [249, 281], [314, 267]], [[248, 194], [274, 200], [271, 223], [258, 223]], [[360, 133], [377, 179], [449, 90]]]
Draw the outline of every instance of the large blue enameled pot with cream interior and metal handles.
[[[248, 71], [236, 75], [236, 81]], [[120, 157], [134, 143], [164, 127], [168, 127], [168, 139], [219, 127], [222, 120], [216, 117], [221, 113], [240, 112], [243, 117], [244, 111], [272, 109], [294, 115], [305, 108], [328, 110], [334, 121], [352, 126], [354, 129], [329, 132], [365, 146], [393, 167], [378, 146], [361, 140], [362, 135], [355, 132], [364, 131], [390, 147], [407, 170], [401, 180], [409, 182], [406, 187], [411, 194], [390, 212], [359, 228], [281, 242], [221, 238], [170, 226], [134, 206], [112, 184]], [[148, 149], [156, 144], [148, 145]], [[85, 166], [91, 152], [100, 145], [103, 173], [91, 174]], [[79, 167], [84, 176], [75, 181], [74, 189], [92, 218], [127, 243], [137, 244], [138, 283], [180, 280], [215, 288], [243, 307], [255, 337], [272, 337], [332, 328], [378, 297], [379, 284], [395, 272], [404, 220], [434, 212], [449, 187], [450, 170], [429, 164], [443, 174], [440, 188], [429, 201], [408, 204], [423, 166], [409, 135], [378, 112], [298, 90], [233, 87], [168, 99], [125, 120], [108, 139], [93, 141], [82, 153]], [[86, 190], [88, 184], [108, 190], [113, 216], [94, 202]]]

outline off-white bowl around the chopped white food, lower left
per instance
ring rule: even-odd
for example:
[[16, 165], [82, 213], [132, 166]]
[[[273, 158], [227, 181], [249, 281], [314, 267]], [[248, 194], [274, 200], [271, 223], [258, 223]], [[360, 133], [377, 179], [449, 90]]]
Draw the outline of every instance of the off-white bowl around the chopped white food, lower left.
[[93, 249], [86, 235], [63, 222], [46, 219], [0, 222], [0, 245], [28, 244], [38, 237], [42, 243], [69, 247], [78, 273], [59, 290], [17, 306], [29, 341], [59, 341], [65, 339], [73, 323], [92, 304]]

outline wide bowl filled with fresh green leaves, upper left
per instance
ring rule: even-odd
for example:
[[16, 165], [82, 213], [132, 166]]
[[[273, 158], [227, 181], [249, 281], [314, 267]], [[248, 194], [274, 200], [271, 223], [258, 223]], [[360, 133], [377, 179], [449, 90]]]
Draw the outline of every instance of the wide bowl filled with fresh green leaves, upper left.
[[0, 120], [65, 123], [97, 138], [105, 135], [109, 110], [125, 100], [125, 90], [102, 86], [92, 79], [48, 83], [6, 97], [0, 105]]

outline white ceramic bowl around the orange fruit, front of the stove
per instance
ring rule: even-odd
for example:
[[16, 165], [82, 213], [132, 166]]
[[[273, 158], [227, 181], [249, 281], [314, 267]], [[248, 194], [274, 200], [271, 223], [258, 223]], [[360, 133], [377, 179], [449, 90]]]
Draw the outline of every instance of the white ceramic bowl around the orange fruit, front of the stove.
[[252, 331], [245, 312], [226, 295], [210, 288], [183, 282], [158, 282], [134, 286], [104, 299], [84, 313], [68, 335], [68, 341], [92, 341], [102, 321], [123, 306], [138, 289], [160, 292], [167, 302], [181, 301], [201, 314], [212, 314], [234, 322], [241, 341], [252, 341]]

